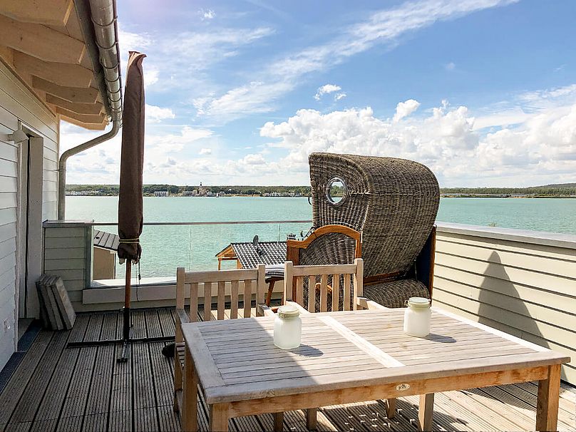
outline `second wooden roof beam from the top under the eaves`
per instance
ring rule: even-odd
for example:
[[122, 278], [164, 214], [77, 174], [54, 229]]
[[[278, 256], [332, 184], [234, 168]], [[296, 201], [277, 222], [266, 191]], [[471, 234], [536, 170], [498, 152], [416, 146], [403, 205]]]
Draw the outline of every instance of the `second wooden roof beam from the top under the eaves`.
[[40, 24], [21, 23], [0, 15], [0, 29], [2, 45], [43, 61], [78, 64], [86, 51], [82, 41]]

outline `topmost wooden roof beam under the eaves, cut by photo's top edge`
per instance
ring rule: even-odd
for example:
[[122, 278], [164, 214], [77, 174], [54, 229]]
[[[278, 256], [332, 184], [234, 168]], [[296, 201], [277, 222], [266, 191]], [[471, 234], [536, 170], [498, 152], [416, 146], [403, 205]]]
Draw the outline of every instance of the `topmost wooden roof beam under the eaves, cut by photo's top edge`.
[[73, 7], [72, 0], [2, 0], [2, 14], [46, 26], [66, 25]]

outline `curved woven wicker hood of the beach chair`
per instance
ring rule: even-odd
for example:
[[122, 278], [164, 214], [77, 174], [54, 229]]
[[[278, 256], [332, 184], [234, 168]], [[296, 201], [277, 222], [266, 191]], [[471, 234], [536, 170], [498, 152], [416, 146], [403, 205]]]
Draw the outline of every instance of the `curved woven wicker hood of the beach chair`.
[[[362, 232], [365, 277], [406, 272], [438, 212], [440, 190], [431, 170], [412, 160], [332, 153], [312, 153], [309, 165], [314, 227], [339, 224]], [[337, 207], [326, 198], [334, 177], [348, 187]]]

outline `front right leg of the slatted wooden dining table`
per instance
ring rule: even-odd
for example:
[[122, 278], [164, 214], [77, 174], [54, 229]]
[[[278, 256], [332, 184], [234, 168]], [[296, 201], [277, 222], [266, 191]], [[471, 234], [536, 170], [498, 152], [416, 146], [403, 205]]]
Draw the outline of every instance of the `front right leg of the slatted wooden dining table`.
[[560, 398], [560, 366], [560, 364], [550, 366], [548, 378], [538, 381], [537, 431], [556, 431]]

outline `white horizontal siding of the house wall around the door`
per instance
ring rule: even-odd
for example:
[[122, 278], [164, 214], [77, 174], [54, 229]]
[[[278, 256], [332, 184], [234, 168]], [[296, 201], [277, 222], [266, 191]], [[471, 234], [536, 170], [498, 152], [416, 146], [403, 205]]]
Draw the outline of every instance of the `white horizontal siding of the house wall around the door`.
[[[58, 175], [55, 161], [58, 157], [58, 119], [0, 62], [0, 368], [14, 352], [14, 320], [18, 307], [16, 289], [20, 279], [19, 269], [16, 267], [16, 257], [19, 254], [16, 245], [19, 144], [8, 143], [2, 140], [2, 137], [19, 128], [19, 121], [32, 135], [43, 140], [43, 172], [31, 175], [42, 176], [42, 217], [56, 218]], [[31, 239], [31, 242], [41, 245], [42, 238]], [[34, 281], [32, 283], [34, 284]], [[4, 323], [10, 327], [9, 331], [4, 331]]]

